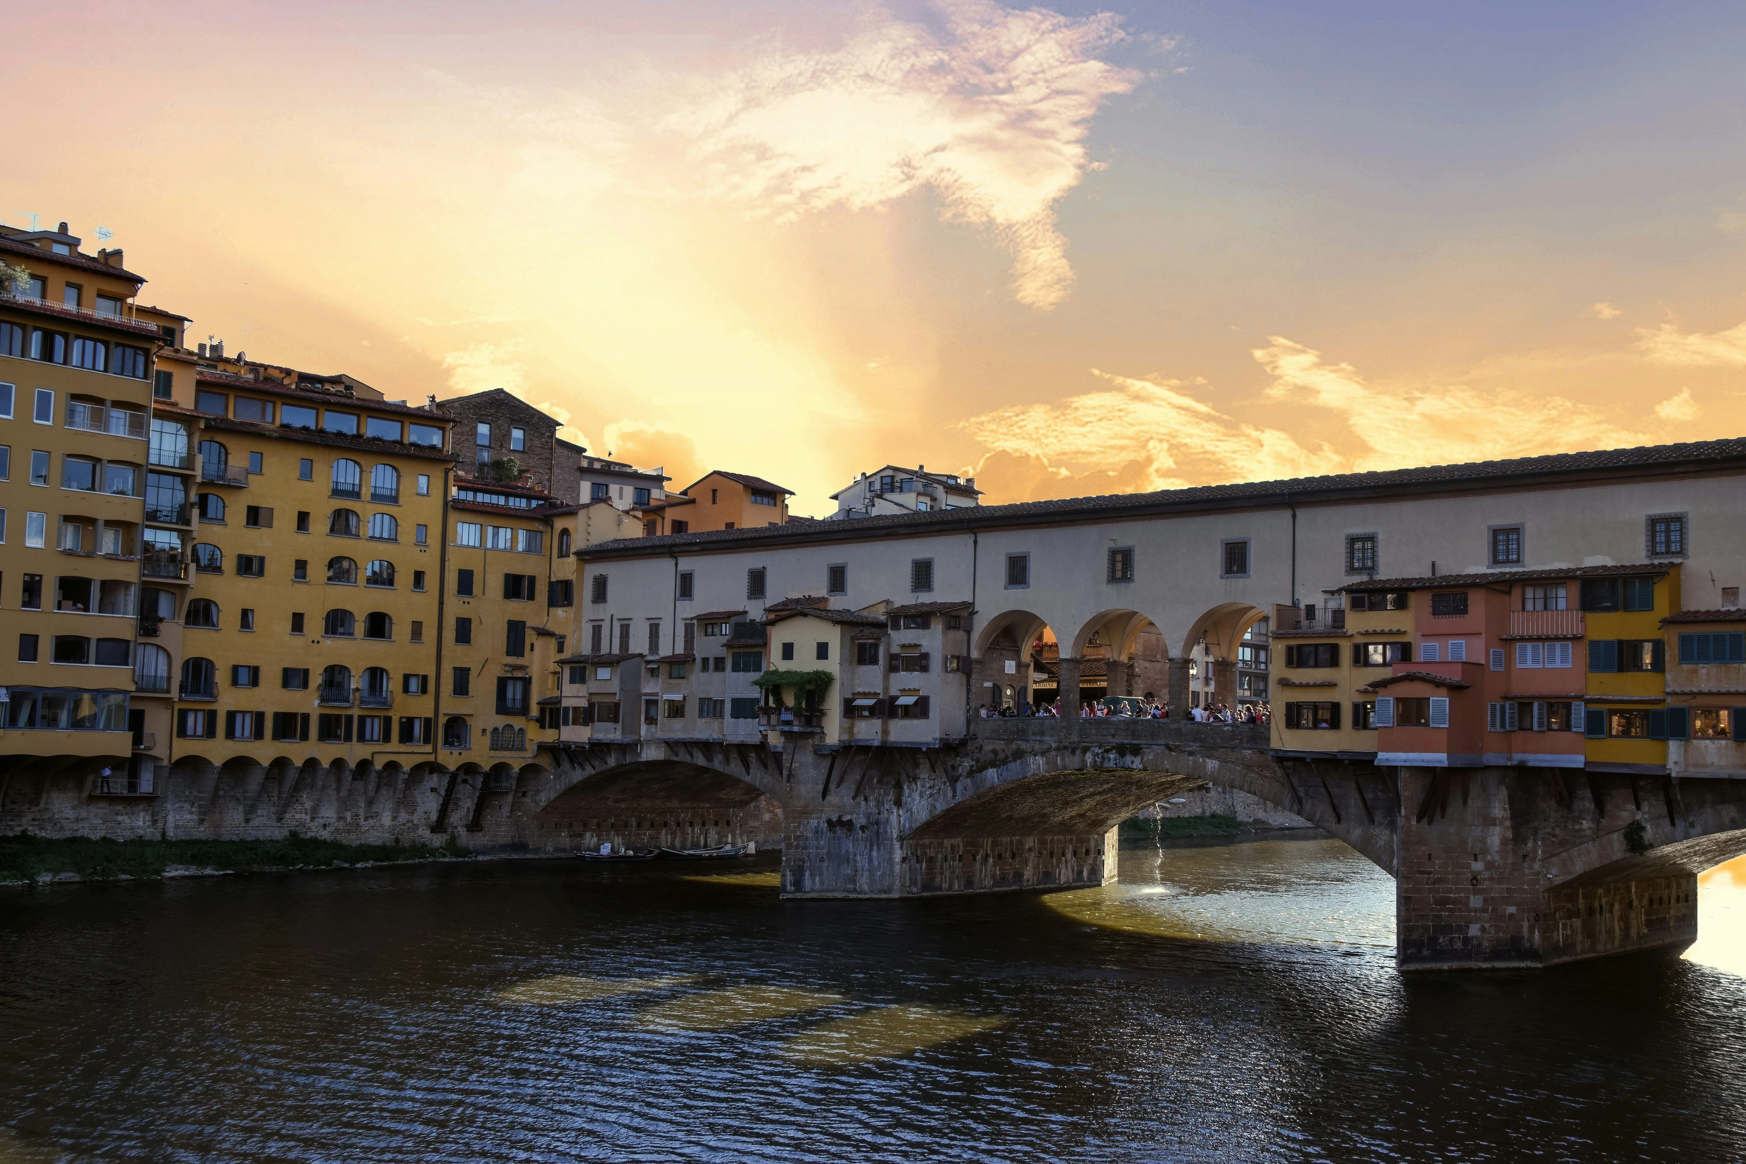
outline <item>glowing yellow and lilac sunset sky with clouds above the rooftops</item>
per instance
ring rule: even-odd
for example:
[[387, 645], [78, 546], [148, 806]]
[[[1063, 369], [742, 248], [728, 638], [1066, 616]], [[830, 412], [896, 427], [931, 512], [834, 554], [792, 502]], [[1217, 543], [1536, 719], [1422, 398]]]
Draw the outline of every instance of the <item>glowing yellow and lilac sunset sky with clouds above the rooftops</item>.
[[822, 513], [1746, 435], [1741, 3], [24, 5], [0, 222]]

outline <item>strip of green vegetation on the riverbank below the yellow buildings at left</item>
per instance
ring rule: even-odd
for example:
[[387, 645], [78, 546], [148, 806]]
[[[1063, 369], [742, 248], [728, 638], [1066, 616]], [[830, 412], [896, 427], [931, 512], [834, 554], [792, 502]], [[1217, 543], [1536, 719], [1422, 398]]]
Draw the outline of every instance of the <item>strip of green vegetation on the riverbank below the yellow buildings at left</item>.
[[33, 881], [66, 873], [84, 880], [161, 878], [166, 869], [330, 867], [389, 860], [435, 860], [468, 857], [450, 836], [438, 845], [344, 845], [290, 832], [278, 841], [112, 841], [91, 838], [44, 838], [30, 832], [0, 836], [0, 883]]

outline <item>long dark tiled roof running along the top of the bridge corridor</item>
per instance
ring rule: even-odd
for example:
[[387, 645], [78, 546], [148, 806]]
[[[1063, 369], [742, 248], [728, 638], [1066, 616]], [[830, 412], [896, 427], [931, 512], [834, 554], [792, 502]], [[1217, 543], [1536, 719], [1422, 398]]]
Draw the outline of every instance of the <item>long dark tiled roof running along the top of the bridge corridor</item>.
[[1353, 501], [1360, 497], [1399, 497], [1413, 494], [1460, 494], [1500, 489], [1577, 485], [1591, 480], [1617, 483], [1629, 473], [1746, 473], [1746, 438], [1687, 442], [1680, 445], [1643, 445], [1598, 452], [1561, 452], [1512, 461], [1472, 461], [1433, 464], [1381, 473], [1339, 473], [1297, 476], [1273, 482], [1233, 482], [1194, 489], [1161, 489], [1142, 494], [1105, 494], [1098, 497], [1062, 497], [1021, 501], [1004, 506], [964, 506], [863, 517], [852, 522], [808, 522], [805, 525], [754, 525], [749, 529], [712, 529], [695, 534], [656, 534], [622, 537], [588, 550], [590, 558], [667, 557], [672, 550], [740, 550], [747, 546], [817, 544], [833, 541], [873, 541], [880, 536], [962, 534], [967, 531], [1060, 525], [1096, 518], [1147, 518], [1215, 510], [1283, 508], [1315, 501]]

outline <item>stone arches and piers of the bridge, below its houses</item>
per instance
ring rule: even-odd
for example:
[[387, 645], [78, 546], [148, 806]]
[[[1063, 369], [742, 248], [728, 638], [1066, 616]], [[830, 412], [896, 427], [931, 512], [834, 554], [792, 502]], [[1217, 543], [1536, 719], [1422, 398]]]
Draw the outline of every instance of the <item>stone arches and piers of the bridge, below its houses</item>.
[[1697, 873], [1746, 852], [1746, 780], [1290, 759], [1264, 728], [1149, 719], [976, 721], [941, 749], [580, 747], [475, 817], [534, 850], [756, 841], [782, 848], [784, 897], [920, 897], [1112, 881], [1121, 820], [1201, 784], [1390, 873], [1404, 969], [1688, 944]]

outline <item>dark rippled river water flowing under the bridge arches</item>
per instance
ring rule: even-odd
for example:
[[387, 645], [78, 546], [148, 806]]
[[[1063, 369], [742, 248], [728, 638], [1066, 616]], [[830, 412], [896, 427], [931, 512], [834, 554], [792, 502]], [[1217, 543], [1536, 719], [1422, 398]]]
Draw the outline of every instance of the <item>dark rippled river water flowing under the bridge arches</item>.
[[1739, 1161], [1746, 866], [1692, 956], [1400, 976], [1329, 839], [1102, 890], [777, 899], [773, 859], [0, 897], [14, 1161]]

